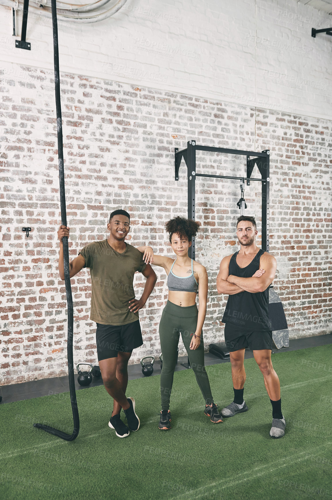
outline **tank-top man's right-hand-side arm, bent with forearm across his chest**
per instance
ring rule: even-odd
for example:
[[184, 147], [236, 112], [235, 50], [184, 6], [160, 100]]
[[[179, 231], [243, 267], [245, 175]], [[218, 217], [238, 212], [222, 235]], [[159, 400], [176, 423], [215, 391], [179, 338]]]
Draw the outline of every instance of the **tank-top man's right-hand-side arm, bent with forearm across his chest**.
[[251, 293], [264, 291], [274, 279], [277, 270], [277, 261], [273, 255], [265, 252], [260, 258], [259, 266], [260, 269], [251, 278], [229, 275], [227, 281]]

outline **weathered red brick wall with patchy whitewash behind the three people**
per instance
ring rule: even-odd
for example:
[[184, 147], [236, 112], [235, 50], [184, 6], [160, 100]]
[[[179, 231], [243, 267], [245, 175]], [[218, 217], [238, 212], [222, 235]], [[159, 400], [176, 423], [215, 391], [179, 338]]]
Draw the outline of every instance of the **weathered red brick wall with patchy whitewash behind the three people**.
[[[66, 297], [58, 277], [60, 220], [52, 71], [24, 66], [24, 80], [1, 77], [0, 373], [4, 383], [66, 372]], [[186, 214], [185, 167], [174, 181], [174, 147], [198, 143], [271, 151], [271, 246], [275, 279], [292, 337], [330, 331], [332, 122], [220, 102], [136, 84], [61, 75], [70, 256], [103, 239], [110, 211], [133, 215], [130, 242], [170, 253], [165, 221]], [[242, 157], [197, 156], [197, 171], [245, 173]], [[256, 168], [256, 167], [255, 167]], [[254, 171], [255, 174], [255, 171]], [[197, 179], [202, 222], [196, 258], [210, 278], [205, 345], [222, 336], [225, 298], [217, 295], [220, 259], [236, 249], [237, 182]], [[248, 211], [260, 214], [260, 185], [246, 186]], [[22, 226], [32, 227], [26, 238]], [[165, 272], [141, 311], [144, 346], [132, 362], [160, 352], [158, 324]], [[90, 277], [72, 279], [74, 361], [96, 361], [89, 320]], [[136, 276], [137, 294], [144, 286]], [[183, 351], [182, 351], [183, 352]]]

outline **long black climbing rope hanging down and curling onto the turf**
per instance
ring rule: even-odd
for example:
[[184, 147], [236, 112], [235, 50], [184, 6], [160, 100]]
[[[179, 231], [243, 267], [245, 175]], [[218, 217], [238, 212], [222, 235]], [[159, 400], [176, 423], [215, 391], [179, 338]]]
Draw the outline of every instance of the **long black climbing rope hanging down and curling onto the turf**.
[[[56, 17], [56, 0], [51, 0], [52, 5], [52, 21], [53, 21], [53, 47], [54, 47], [54, 79], [55, 79], [55, 103], [56, 103], [56, 123], [58, 130], [58, 158], [59, 158], [59, 181], [60, 181], [60, 206], [61, 206], [61, 224], [67, 226], [67, 213], [66, 213], [66, 197], [65, 197], [65, 183], [64, 183], [64, 167], [63, 167], [63, 142], [62, 142], [62, 117], [61, 117], [61, 100], [60, 100], [60, 72], [59, 72], [59, 46], [58, 46], [58, 25]], [[34, 427], [46, 430], [50, 434], [54, 434], [66, 441], [73, 441], [78, 436], [80, 429], [80, 420], [78, 415], [76, 391], [75, 391], [75, 378], [74, 378], [74, 362], [73, 362], [73, 298], [71, 294], [70, 277], [69, 277], [69, 252], [68, 252], [68, 238], [62, 239], [63, 243], [63, 266], [64, 277], [67, 295], [67, 317], [68, 317], [68, 341], [67, 341], [67, 359], [68, 359], [68, 378], [69, 378], [69, 391], [71, 408], [73, 411], [74, 430], [73, 433], [67, 434], [61, 430], [49, 427], [42, 423], [34, 423]]]

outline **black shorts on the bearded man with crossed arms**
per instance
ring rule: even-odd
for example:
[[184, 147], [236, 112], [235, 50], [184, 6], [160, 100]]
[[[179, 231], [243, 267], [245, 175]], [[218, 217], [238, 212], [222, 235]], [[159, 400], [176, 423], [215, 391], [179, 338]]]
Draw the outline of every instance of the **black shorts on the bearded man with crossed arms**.
[[230, 352], [246, 347], [251, 350], [272, 350], [272, 330], [242, 330], [226, 323], [225, 342]]

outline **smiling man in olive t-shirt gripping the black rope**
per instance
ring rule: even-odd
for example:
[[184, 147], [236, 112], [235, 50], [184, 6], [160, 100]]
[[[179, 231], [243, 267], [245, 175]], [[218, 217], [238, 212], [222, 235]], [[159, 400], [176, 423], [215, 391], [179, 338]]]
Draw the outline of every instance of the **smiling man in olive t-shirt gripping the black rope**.
[[[91, 314], [96, 321], [96, 344], [99, 366], [107, 392], [114, 405], [109, 426], [117, 436], [126, 437], [130, 430], [138, 430], [140, 419], [135, 413], [135, 400], [126, 397], [128, 361], [132, 350], [143, 344], [139, 310], [145, 305], [157, 281], [157, 276], [146, 254], [125, 242], [130, 230], [130, 215], [125, 210], [111, 213], [107, 228], [108, 239], [88, 243], [70, 262], [70, 277], [83, 267], [90, 268]], [[69, 236], [69, 228], [58, 230], [60, 240], [59, 274], [64, 279], [62, 238]], [[135, 298], [134, 274], [142, 272], [147, 278], [140, 299]], [[128, 427], [120, 419], [124, 409]]]

